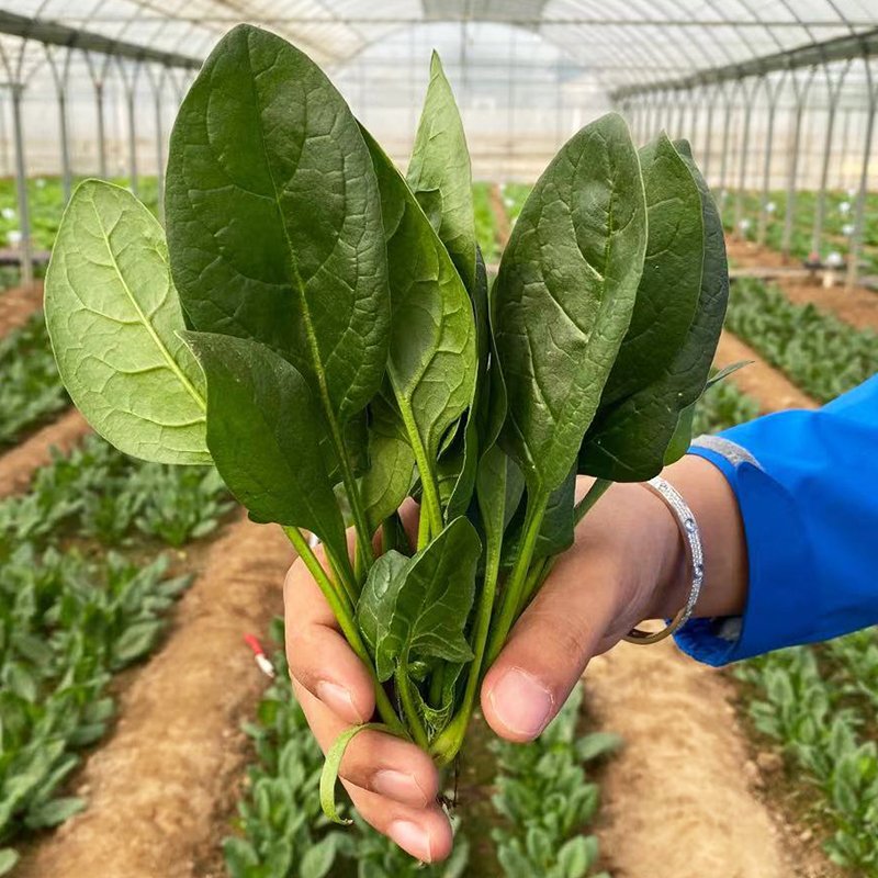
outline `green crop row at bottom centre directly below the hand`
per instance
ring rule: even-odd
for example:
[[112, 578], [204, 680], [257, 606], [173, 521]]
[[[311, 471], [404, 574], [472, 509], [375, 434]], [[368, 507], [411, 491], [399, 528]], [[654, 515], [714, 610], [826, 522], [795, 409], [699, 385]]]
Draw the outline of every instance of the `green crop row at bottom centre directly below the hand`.
[[[280, 620], [270, 637], [283, 642]], [[619, 740], [581, 733], [582, 690], [532, 746], [492, 744], [496, 774], [489, 778], [495, 790], [489, 813], [470, 809], [470, 802], [462, 806], [451, 859], [423, 867], [356, 813], [350, 814], [354, 825], [341, 831], [323, 815], [323, 754], [292, 695], [281, 653], [274, 665], [277, 679], [255, 721], [245, 724], [256, 761], [237, 804], [236, 834], [224, 844], [230, 878], [323, 878], [354, 868], [360, 878], [457, 878], [473, 871], [485, 878], [608, 878], [595, 874], [597, 838], [584, 834], [597, 810], [598, 788], [583, 765], [615, 750]], [[488, 837], [493, 845], [486, 854], [476, 842]]]

